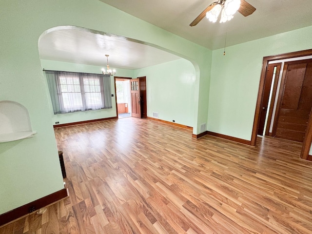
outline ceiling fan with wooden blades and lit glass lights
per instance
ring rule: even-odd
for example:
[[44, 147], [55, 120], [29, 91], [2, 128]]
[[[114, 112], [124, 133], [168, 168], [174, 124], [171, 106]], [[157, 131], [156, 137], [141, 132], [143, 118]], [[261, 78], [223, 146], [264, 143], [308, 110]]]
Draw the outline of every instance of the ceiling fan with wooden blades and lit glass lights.
[[226, 22], [233, 18], [233, 15], [238, 11], [243, 16], [249, 16], [256, 9], [245, 0], [218, 0], [211, 3], [196, 19], [190, 24], [195, 26], [205, 16], [212, 22], [216, 22], [221, 13], [220, 22]]

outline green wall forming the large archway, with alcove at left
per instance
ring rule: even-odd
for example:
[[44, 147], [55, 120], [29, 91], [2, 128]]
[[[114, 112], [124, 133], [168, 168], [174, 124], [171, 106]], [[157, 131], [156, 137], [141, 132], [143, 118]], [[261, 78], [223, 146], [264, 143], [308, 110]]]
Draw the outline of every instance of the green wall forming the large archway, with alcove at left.
[[0, 15], [0, 100], [24, 105], [38, 132], [0, 143], [0, 214], [63, 188], [38, 52], [39, 37], [46, 30], [60, 25], [89, 28], [144, 41], [190, 60], [196, 77], [193, 132], [207, 121], [211, 50], [99, 0], [1, 0]]

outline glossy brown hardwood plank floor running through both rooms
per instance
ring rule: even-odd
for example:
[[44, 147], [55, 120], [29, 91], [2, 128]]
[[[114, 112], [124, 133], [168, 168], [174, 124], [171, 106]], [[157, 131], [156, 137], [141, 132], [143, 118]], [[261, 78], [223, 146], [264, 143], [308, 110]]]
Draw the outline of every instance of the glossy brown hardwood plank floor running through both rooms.
[[301, 143], [255, 148], [148, 119], [55, 129], [70, 197], [0, 234], [311, 234]]

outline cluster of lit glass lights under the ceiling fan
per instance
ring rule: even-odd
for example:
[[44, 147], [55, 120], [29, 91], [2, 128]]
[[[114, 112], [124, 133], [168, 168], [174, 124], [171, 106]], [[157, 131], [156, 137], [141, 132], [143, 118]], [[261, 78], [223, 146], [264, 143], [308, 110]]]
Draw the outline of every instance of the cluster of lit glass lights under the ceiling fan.
[[221, 12], [220, 23], [233, 19], [233, 15], [239, 9], [240, 0], [218, 0], [213, 9], [206, 13], [206, 17], [211, 22], [216, 22]]

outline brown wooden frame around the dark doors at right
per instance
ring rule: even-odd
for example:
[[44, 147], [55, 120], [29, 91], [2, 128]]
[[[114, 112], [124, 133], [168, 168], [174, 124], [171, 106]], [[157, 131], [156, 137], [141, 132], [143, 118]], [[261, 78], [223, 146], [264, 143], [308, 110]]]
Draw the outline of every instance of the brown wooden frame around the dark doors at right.
[[[255, 113], [254, 113], [254, 125], [253, 125], [252, 138], [251, 138], [252, 146], [255, 146], [256, 140], [257, 140], [257, 130], [258, 130], [259, 119], [260, 119], [262, 96], [263, 96], [263, 91], [264, 91], [266, 71], [268, 69], [269, 62], [274, 61], [274, 60], [292, 59], [292, 58], [298, 58], [298, 57], [304, 57], [304, 56], [312, 56], [312, 49], [263, 57], [259, 89], [258, 89], [258, 97], [257, 97]], [[312, 126], [311, 115], [308, 121], [308, 128], [309, 126], [310, 127]], [[302, 149], [301, 149], [300, 157], [303, 159], [308, 159], [309, 151], [311, 147], [311, 139], [312, 139], [312, 130], [308, 129], [308, 131], [306, 132], [306, 136], [303, 142]]]

